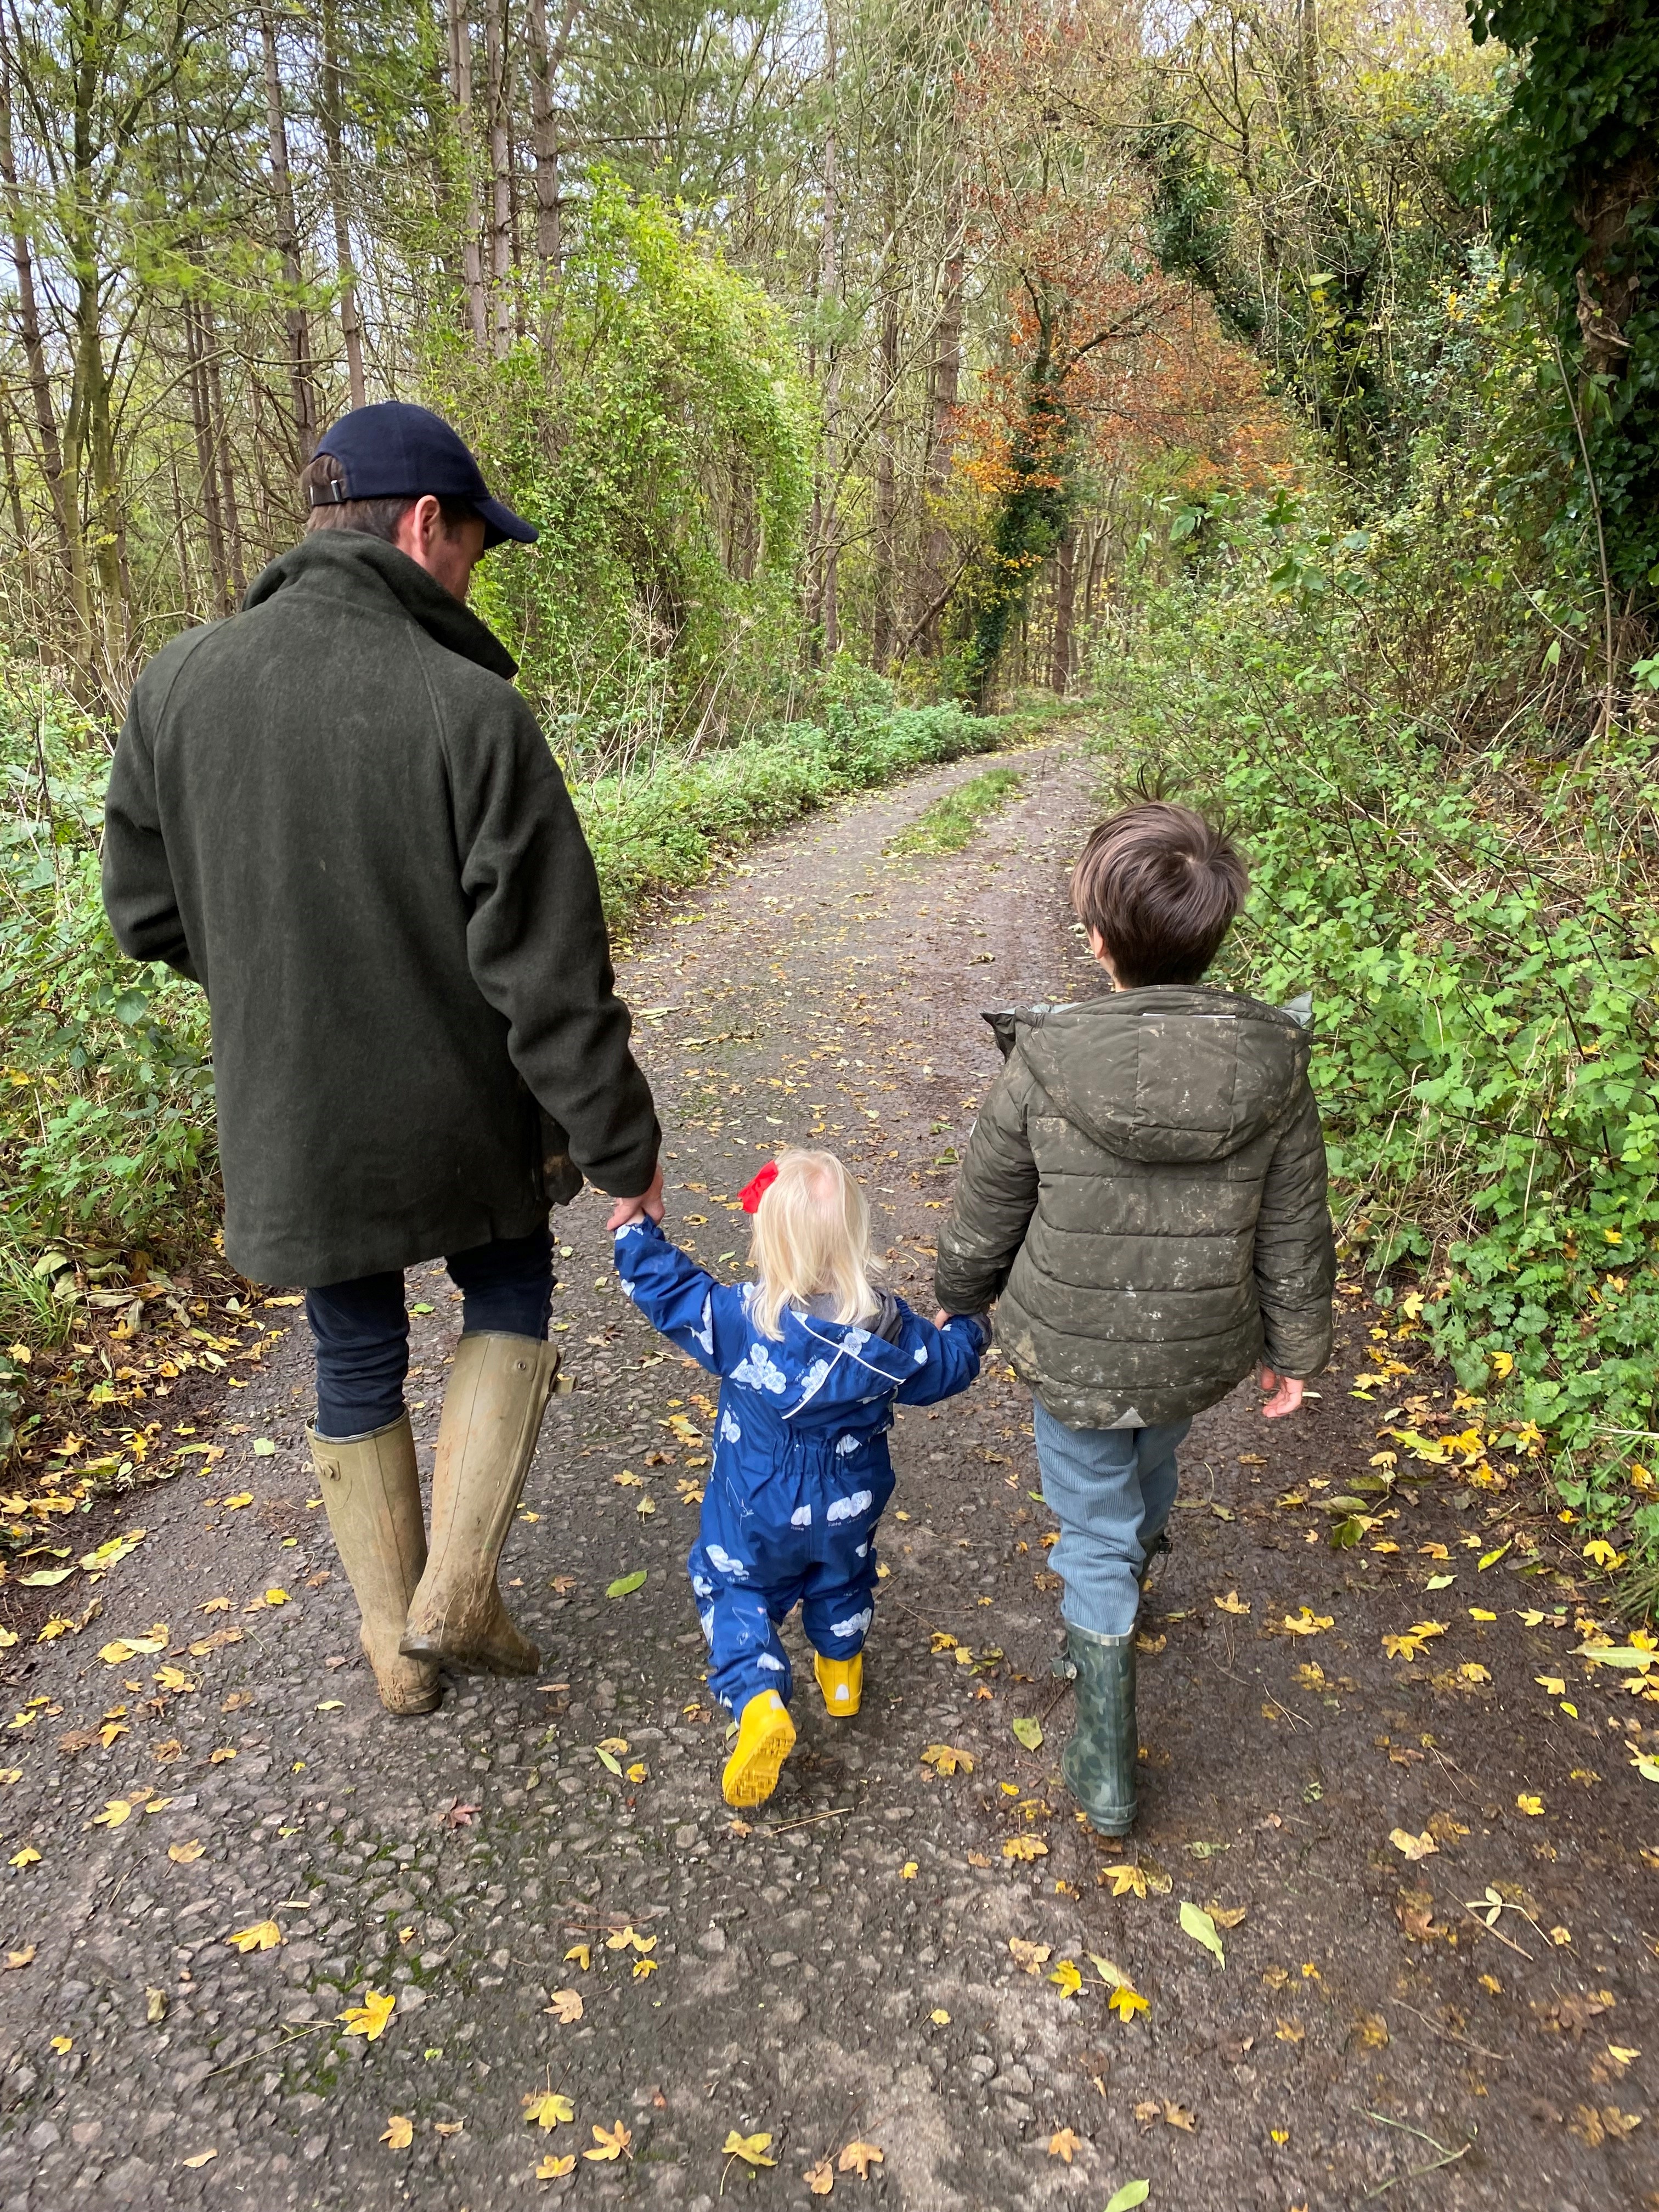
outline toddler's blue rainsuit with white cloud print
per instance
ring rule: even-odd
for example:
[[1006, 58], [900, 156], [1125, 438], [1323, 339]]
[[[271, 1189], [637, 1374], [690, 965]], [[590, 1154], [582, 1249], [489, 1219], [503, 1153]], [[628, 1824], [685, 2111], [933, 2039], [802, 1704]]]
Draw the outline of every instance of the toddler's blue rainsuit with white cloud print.
[[776, 1624], [801, 1606], [825, 1659], [863, 1650], [876, 1593], [876, 1522], [894, 1493], [894, 1405], [933, 1405], [980, 1371], [987, 1332], [942, 1329], [883, 1298], [863, 1329], [787, 1310], [781, 1336], [750, 1321], [754, 1285], [726, 1287], [655, 1221], [617, 1230], [624, 1292], [670, 1343], [721, 1376], [714, 1464], [690, 1568], [708, 1683], [732, 1712], [761, 1690], [790, 1699]]

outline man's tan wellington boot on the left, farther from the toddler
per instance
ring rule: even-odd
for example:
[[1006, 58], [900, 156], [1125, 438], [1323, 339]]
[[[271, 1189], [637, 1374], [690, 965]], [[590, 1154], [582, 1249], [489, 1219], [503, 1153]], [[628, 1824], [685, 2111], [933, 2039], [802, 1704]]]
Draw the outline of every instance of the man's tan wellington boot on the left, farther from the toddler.
[[431, 1712], [438, 1668], [398, 1652], [420, 1568], [427, 1526], [409, 1416], [367, 1436], [305, 1431], [327, 1506], [334, 1548], [363, 1615], [363, 1650], [387, 1712]]

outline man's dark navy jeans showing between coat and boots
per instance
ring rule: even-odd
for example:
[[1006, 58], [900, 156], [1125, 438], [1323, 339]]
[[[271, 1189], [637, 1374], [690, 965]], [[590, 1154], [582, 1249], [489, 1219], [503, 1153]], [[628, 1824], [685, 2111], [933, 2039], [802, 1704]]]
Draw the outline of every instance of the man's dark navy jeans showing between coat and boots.
[[[546, 1336], [553, 1312], [553, 1237], [502, 1237], [453, 1252], [445, 1267], [462, 1292], [460, 1325], [502, 1336]], [[403, 1276], [358, 1274], [305, 1292], [316, 1338], [316, 1433], [367, 1436], [403, 1413], [409, 1374], [409, 1314]]]

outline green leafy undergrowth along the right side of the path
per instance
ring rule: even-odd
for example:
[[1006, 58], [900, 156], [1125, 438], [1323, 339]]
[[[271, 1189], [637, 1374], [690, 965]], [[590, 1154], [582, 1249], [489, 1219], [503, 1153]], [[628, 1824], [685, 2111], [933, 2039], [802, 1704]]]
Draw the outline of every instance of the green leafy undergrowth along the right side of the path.
[[[1544, 1444], [1586, 1571], [1650, 1604], [1652, 737], [1562, 743], [1524, 714], [1484, 743], [1429, 734], [1340, 615], [1276, 584], [1267, 531], [1228, 553], [1148, 588], [1102, 657], [1110, 783], [1230, 816], [1254, 885], [1217, 980], [1314, 993], [1345, 1263], [1385, 1303], [1416, 1285], [1407, 1312], [1489, 1431]], [[1473, 1480], [1509, 1478], [1482, 1460]]]

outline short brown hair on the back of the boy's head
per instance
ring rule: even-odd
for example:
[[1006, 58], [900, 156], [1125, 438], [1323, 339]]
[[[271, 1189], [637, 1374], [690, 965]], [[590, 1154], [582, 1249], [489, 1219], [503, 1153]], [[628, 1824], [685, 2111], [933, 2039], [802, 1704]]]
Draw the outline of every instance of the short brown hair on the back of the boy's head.
[[1197, 982], [1245, 902], [1250, 874], [1225, 830], [1148, 799], [1113, 814], [1071, 872], [1071, 905], [1097, 929], [1126, 991]]

